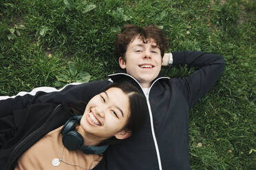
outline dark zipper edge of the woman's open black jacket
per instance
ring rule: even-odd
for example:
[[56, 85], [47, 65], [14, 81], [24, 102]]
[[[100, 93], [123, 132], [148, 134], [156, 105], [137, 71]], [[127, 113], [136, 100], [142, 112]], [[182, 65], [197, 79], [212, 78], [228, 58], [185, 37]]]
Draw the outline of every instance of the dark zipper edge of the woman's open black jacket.
[[[30, 140], [30, 138], [34, 137], [36, 134], [39, 134], [39, 132], [41, 132], [41, 130], [43, 130], [46, 125], [48, 125], [50, 123], [50, 120], [52, 119], [52, 117], [54, 117], [54, 115], [56, 114], [56, 110], [61, 106], [61, 104], [59, 104], [58, 106], [56, 106], [56, 108], [54, 108], [54, 110], [52, 111], [52, 114], [50, 115], [50, 117], [47, 119], [47, 121], [45, 121], [45, 123], [39, 127], [39, 129], [35, 130], [34, 132], [32, 132], [30, 135], [28, 135], [26, 138], [23, 139], [23, 141], [21, 141], [12, 151], [12, 153], [10, 154], [10, 157], [8, 159], [8, 162], [7, 162], [7, 170], [10, 169], [10, 167], [12, 166], [14, 160], [16, 160], [16, 158], [12, 158], [13, 156], [17, 156], [19, 155], [18, 151], [19, 151], [19, 148], [21, 148], [21, 146], [23, 146], [23, 143], [27, 143], [27, 141]], [[18, 151], [17, 151], [18, 150]], [[16, 153], [17, 152], [17, 153]], [[12, 162], [11, 162], [12, 161]]]

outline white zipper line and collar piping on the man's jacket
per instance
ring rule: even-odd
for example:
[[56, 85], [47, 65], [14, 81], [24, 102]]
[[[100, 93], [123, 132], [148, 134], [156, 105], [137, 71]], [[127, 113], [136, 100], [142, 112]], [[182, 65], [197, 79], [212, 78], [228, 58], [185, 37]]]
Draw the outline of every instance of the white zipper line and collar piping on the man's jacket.
[[[127, 75], [127, 76], [131, 77], [140, 86], [140, 83], [134, 77], [132, 77], [131, 75], [128, 75], [126, 73], [116, 73], [116, 74], [111, 74], [111, 75], [119, 75], [119, 74]], [[109, 76], [111, 76], [111, 75], [109, 75]], [[149, 93], [150, 93], [150, 90], [151, 90], [153, 84], [155, 84], [158, 80], [165, 79], [165, 78], [170, 79], [170, 77], [159, 77], [157, 80], [155, 80], [149, 88]], [[143, 89], [142, 86], [140, 86], [140, 88]], [[148, 93], [148, 95], [145, 95], [145, 94], [144, 95], [147, 99], [147, 107], [149, 108], [149, 118], [150, 118], [150, 124], [151, 124], [151, 132], [152, 132], [152, 136], [153, 136], [153, 143], [155, 144], [155, 147], [156, 147], [156, 156], [158, 157], [158, 167], [159, 167], [159, 170], [162, 170], [162, 163], [161, 163], [161, 158], [160, 158], [160, 151], [159, 151], [159, 148], [158, 148], [158, 141], [156, 141], [156, 134], [155, 134], [155, 130], [154, 130], [154, 127], [153, 127], [153, 116], [152, 116], [151, 106], [150, 106], [150, 103], [149, 103], [149, 93]]]

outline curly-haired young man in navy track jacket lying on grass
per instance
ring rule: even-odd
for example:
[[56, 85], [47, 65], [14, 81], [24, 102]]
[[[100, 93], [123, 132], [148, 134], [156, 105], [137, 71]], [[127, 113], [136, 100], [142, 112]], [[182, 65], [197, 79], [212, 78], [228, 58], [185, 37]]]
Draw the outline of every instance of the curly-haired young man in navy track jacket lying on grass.
[[[116, 56], [126, 73], [109, 75], [111, 82], [125, 81], [138, 86], [147, 97], [149, 115], [140, 132], [120, 145], [109, 147], [94, 169], [190, 169], [189, 109], [219, 79], [224, 60], [199, 51], [164, 54], [167, 42], [161, 30], [153, 26], [127, 25], [116, 36]], [[186, 65], [197, 70], [188, 77], [171, 79], [159, 77], [162, 65]], [[111, 82], [70, 85], [59, 92], [39, 91], [33, 96], [5, 99], [0, 101], [1, 116], [37, 102], [61, 104], [88, 100]]]

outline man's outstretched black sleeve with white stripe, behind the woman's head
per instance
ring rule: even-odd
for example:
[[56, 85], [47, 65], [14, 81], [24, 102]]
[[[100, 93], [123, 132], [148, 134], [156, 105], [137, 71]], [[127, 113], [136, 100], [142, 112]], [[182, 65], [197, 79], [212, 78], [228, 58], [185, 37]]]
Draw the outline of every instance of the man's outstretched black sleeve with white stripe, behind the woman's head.
[[15, 98], [0, 100], [0, 117], [12, 113], [12, 110], [25, 108], [30, 104], [49, 102], [52, 104], [75, 104], [77, 101], [88, 101], [94, 95], [102, 92], [111, 82], [101, 80], [79, 85], [69, 85], [63, 90], [45, 93], [39, 91], [36, 95], [23, 95]]

